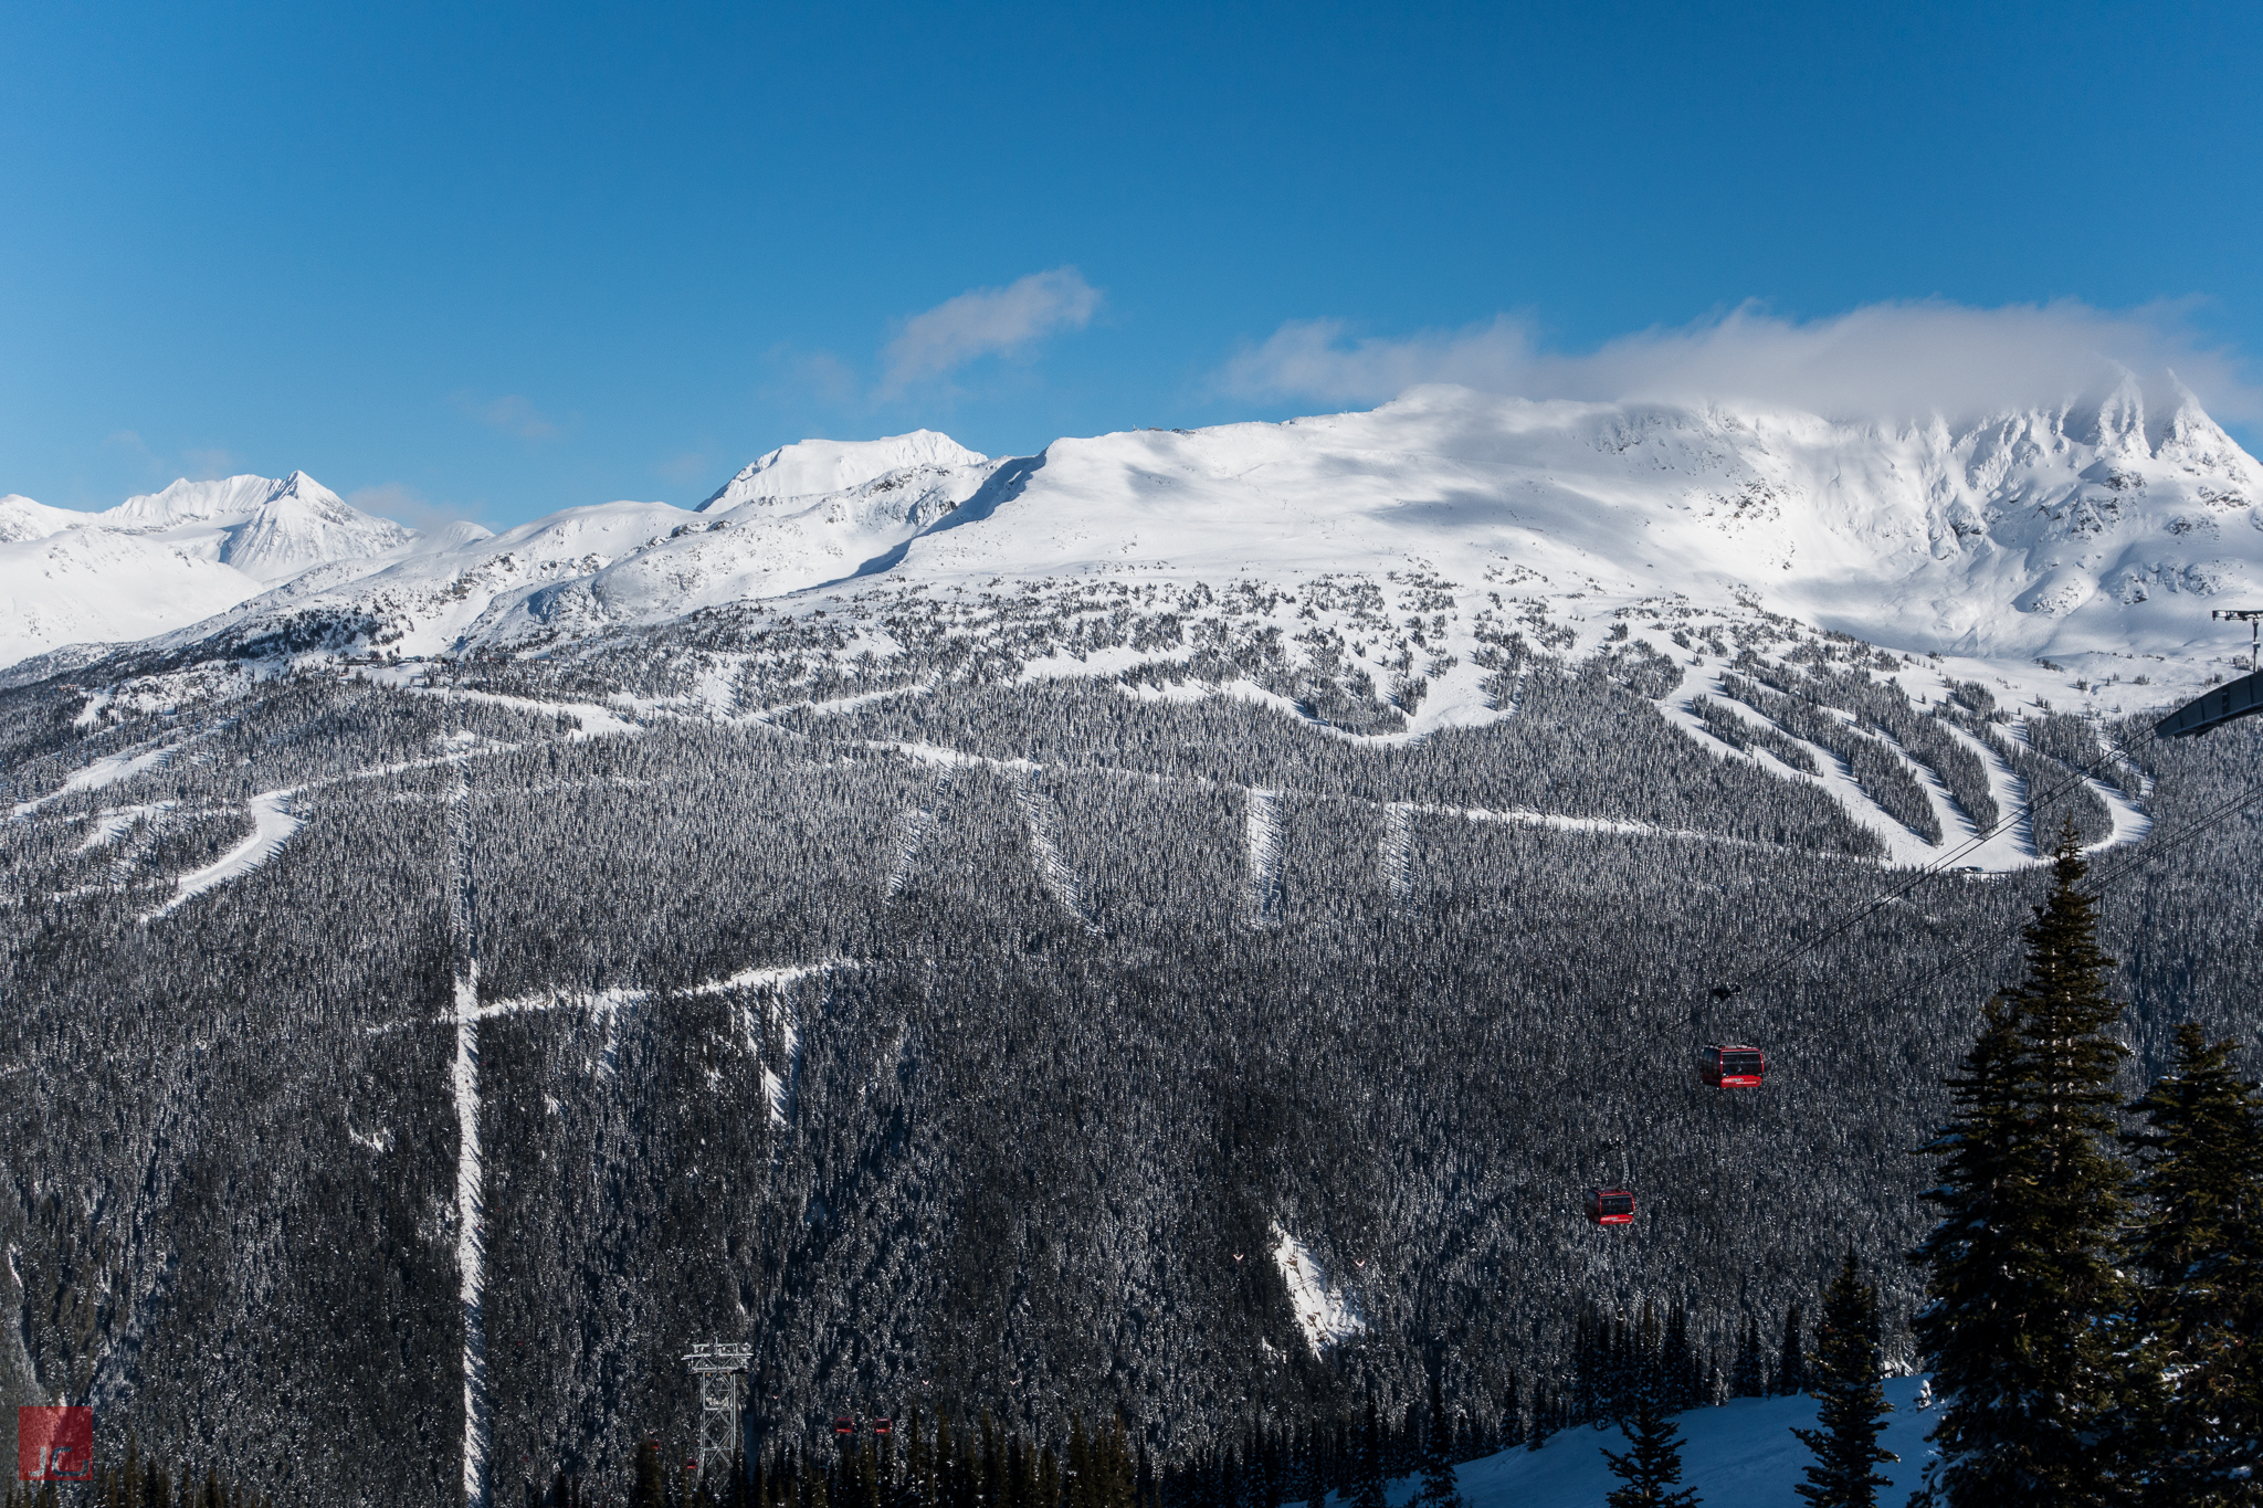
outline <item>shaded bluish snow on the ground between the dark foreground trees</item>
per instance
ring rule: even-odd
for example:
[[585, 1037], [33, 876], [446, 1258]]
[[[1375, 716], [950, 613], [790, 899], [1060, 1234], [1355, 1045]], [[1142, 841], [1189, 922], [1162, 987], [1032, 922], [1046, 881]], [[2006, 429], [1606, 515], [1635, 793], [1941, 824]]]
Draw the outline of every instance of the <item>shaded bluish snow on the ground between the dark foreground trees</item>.
[[[1881, 1445], [1899, 1463], [1885, 1463], [1878, 1474], [1894, 1485], [1878, 1488], [1881, 1508], [1901, 1508], [1919, 1485], [1926, 1465], [1926, 1431], [1939, 1418], [1919, 1413], [1917, 1377], [1890, 1377], [1885, 1397], [1894, 1404]], [[1720, 1409], [1693, 1409], [1681, 1424], [1681, 1485], [1715, 1508], [1804, 1508], [1795, 1485], [1806, 1481], [1815, 1456], [1792, 1427], [1815, 1427], [1813, 1397], [1738, 1397]], [[1469, 1508], [1598, 1508], [1620, 1481], [1604, 1463], [1604, 1447], [1627, 1449], [1618, 1429], [1566, 1429], [1532, 1451], [1516, 1447], [1460, 1467], [1462, 1497]], [[1392, 1483], [1392, 1508], [1414, 1501], [1421, 1479]]]

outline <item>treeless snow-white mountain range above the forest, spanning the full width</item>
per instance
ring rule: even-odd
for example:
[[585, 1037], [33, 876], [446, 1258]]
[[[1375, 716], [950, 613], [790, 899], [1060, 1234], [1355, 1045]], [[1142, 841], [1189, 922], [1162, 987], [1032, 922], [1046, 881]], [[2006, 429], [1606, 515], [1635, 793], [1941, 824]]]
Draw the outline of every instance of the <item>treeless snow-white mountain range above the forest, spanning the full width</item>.
[[1371, 414], [1036, 457], [928, 430], [801, 441], [697, 509], [609, 502], [505, 534], [421, 536], [292, 473], [177, 482], [95, 515], [7, 497], [0, 538], [0, 662], [308, 615], [430, 656], [729, 604], [792, 613], [851, 579], [1290, 588], [1399, 567], [1453, 581], [1464, 608], [1489, 592], [1595, 622], [1650, 599], [1767, 608], [2105, 681], [2225, 642], [2209, 608], [2263, 586], [2263, 468], [2191, 393], [2148, 402], [2134, 378], [2057, 409], [1899, 427], [1428, 387]]

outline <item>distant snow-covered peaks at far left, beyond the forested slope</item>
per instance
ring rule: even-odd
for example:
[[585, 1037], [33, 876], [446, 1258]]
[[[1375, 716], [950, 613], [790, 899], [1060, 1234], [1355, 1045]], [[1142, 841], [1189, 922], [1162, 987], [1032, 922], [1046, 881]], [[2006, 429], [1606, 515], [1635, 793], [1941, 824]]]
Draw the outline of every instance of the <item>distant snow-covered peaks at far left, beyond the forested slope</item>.
[[0, 497], [0, 662], [167, 633], [317, 567], [362, 577], [425, 540], [301, 470], [174, 482], [102, 513]]

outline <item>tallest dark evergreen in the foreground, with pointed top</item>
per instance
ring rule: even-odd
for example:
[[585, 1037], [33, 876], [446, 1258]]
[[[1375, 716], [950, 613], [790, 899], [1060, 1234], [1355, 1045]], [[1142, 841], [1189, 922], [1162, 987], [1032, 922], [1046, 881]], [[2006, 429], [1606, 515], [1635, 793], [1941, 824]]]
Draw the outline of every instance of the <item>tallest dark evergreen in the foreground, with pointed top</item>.
[[1926, 1494], [1946, 1508], [2105, 1503], [2116, 1404], [2109, 1325], [2127, 1300], [2116, 1230], [2127, 1173], [2114, 1158], [2118, 1006], [2096, 943], [2086, 866], [2062, 834], [2050, 898], [2025, 929], [2028, 974], [1989, 1002], [1955, 1117], [1924, 1149], [1942, 1221], [1914, 1332], [1944, 1395]]

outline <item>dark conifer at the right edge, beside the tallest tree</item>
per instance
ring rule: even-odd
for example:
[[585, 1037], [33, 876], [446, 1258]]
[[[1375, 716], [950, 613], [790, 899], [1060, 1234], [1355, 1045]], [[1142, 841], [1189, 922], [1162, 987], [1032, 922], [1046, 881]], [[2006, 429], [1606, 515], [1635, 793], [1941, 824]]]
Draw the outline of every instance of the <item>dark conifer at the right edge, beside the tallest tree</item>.
[[2177, 1026], [2177, 1063], [2136, 1110], [2143, 1216], [2129, 1232], [2136, 1377], [2120, 1449], [2148, 1501], [2229, 1503], [2263, 1479], [2263, 1099], [2236, 1042]]

